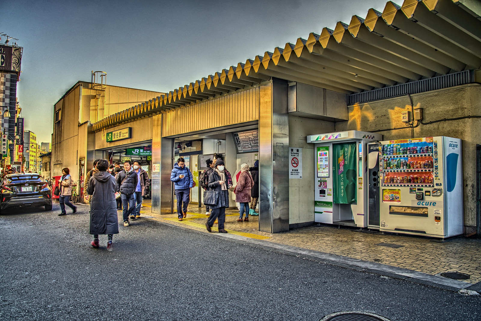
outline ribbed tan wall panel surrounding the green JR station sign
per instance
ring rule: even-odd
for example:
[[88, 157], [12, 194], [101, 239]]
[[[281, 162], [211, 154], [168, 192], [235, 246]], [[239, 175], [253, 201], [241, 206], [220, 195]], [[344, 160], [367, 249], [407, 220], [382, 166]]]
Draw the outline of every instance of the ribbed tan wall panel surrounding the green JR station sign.
[[[126, 124], [122, 124], [119, 126], [115, 126], [112, 128], [108, 128], [99, 132], [95, 133], [95, 149], [104, 149], [109, 147], [115, 147], [125, 144], [131, 144], [138, 141], [150, 141], [152, 140], [152, 119], [153, 117], [142, 118], [139, 120], [135, 120], [133, 122], [129, 122]], [[121, 140], [121, 141], [113, 141], [107, 142], [105, 135], [108, 132], [123, 129], [127, 127], [132, 127], [132, 138]]]

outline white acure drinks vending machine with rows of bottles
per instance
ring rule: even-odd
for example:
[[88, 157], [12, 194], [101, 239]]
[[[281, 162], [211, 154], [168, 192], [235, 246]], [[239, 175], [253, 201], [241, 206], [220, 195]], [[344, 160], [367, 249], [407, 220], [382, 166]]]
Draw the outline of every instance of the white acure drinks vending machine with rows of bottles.
[[462, 234], [461, 140], [438, 136], [381, 145], [380, 231]]

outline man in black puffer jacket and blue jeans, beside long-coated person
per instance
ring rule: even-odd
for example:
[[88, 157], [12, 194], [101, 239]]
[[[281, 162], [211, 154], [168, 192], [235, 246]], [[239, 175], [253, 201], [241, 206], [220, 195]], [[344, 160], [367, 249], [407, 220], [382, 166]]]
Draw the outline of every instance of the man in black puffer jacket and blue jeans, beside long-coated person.
[[122, 216], [124, 218], [124, 226], [129, 226], [128, 217], [135, 216], [135, 197], [134, 192], [139, 182], [137, 173], [132, 168], [132, 163], [127, 160], [124, 162], [124, 170], [117, 174], [117, 189], [122, 199]]

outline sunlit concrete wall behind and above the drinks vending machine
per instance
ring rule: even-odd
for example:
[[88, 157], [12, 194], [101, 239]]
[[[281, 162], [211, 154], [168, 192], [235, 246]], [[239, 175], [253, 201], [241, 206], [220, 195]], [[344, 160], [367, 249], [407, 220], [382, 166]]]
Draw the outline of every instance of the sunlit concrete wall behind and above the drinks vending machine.
[[[481, 115], [481, 86], [463, 85], [411, 95], [414, 108], [423, 108], [423, 122], [443, 118]], [[401, 113], [410, 111], [409, 98], [401, 96], [348, 107], [349, 120], [337, 122], [336, 131], [401, 128]], [[466, 232], [476, 226], [476, 144], [481, 143], [481, 118], [465, 118], [420, 124], [414, 137], [448, 136], [463, 141], [464, 224]], [[383, 131], [384, 140], [411, 137], [411, 129]]]

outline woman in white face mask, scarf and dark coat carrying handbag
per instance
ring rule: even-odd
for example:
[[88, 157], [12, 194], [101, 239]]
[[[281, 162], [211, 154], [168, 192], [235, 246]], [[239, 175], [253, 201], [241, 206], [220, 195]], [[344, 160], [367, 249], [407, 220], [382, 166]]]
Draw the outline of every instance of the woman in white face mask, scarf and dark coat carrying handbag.
[[217, 192], [215, 205], [209, 205], [212, 212], [207, 219], [207, 223], [205, 223], [205, 227], [209, 232], [211, 232], [211, 227], [214, 225], [215, 219], [217, 219], [219, 233], [227, 233], [227, 231], [224, 230], [224, 223], [226, 221], [226, 207], [229, 206], [229, 190], [224, 169], [224, 161], [218, 159], [215, 162], [214, 170], [209, 175], [209, 191]]

